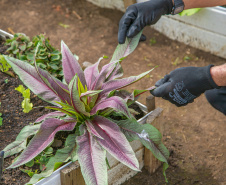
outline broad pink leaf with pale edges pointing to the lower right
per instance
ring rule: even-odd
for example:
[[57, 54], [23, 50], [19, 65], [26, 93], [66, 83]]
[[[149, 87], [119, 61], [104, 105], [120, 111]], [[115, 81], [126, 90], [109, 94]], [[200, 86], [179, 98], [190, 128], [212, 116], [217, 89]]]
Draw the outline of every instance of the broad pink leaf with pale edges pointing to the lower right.
[[100, 145], [117, 160], [133, 170], [139, 170], [139, 163], [133, 149], [117, 124], [102, 116], [95, 116], [93, 126], [104, 140], [96, 138]]

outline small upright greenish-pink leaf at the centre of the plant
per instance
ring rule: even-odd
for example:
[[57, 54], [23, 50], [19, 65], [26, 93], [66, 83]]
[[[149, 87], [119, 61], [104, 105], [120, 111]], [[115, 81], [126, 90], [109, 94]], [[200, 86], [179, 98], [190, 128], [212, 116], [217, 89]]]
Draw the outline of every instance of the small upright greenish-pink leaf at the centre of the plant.
[[69, 84], [71, 101], [74, 109], [77, 112], [80, 112], [86, 116], [89, 116], [89, 113], [86, 112], [84, 103], [80, 100], [79, 91], [78, 91], [78, 76], [75, 75]]

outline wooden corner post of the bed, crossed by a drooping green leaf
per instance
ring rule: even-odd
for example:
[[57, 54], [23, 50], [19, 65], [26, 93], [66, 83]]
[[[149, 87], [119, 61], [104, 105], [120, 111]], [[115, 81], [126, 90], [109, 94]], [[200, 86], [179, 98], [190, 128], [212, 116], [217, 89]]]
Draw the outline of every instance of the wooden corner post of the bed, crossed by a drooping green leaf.
[[[147, 123], [152, 124], [155, 128], [157, 128], [161, 134], [163, 134], [163, 109], [157, 108], [153, 111], [153, 113], [148, 116]], [[144, 166], [149, 171], [149, 173], [154, 173], [160, 166], [161, 162], [155, 158], [152, 152], [145, 148], [144, 151]]]

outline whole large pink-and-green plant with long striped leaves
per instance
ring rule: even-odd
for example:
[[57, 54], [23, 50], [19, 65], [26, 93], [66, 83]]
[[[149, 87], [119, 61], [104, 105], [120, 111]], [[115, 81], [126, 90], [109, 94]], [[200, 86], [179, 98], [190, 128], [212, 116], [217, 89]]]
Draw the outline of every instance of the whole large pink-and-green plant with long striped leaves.
[[[152, 71], [120, 78], [123, 76], [121, 62], [135, 50], [140, 36], [141, 33], [127, 39], [125, 44], [118, 45], [110, 63], [100, 71], [98, 65], [102, 58], [83, 71], [76, 57], [62, 41], [65, 83], [40, 69], [36, 61], [35, 66], [32, 66], [4, 56], [22, 82], [38, 97], [53, 104], [47, 108], [54, 110], [38, 118], [34, 124], [25, 126], [16, 140], [4, 149], [4, 157], [22, 151], [8, 168], [31, 163], [51, 146], [57, 132], [74, 131], [66, 138], [64, 147], [49, 157], [42, 172], [34, 174], [27, 184], [34, 184], [50, 176], [59, 164], [78, 160], [87, 185], [106, 185], [106, 151], [131, 169], [140, 171], [138, 160], [129, 144], [133, 140], [140, 140], [156, 158], [164, 162], [165, 172], [169, 152], [161, 142], [160, 132], [150, 124], [139, 124], [128, 108], [140, 94], [154, 87], [134, 90], [129, 95], [121, 90]], [[121, 119], [114, 120], [114, 115]], [[31, 136], [33, 138], [30, 140]]]

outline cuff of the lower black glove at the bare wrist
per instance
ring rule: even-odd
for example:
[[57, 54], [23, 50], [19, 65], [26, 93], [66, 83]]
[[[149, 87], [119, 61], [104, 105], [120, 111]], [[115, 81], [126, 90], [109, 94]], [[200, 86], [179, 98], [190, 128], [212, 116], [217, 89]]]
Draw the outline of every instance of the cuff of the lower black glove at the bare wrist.
[[205, 87], [206, 90], [209, 89], [219, 89], [220, 87], [213, 81], [213, 78], [210, 74], [210, 68], [213, 67], [214, 65], [208, 65], [206, 67], [203, 67], [204, 70], [204, 81], [203, 81], [203, 86]]

